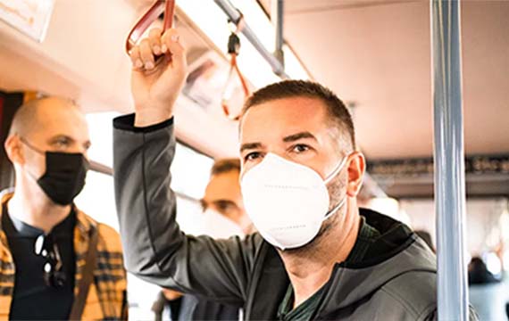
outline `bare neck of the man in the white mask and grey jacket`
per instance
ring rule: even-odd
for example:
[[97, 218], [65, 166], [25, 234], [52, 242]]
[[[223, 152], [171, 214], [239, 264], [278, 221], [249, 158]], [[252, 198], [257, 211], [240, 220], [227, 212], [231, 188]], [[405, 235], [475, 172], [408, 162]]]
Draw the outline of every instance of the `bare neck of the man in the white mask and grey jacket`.
[[346, 210], [352, 212], [335, 214], [341, 216], [336, 218], [338, 223], [309, 248], [280, 251], [294, 289], [294, 308], [320, 290], [334, 265], [345, 261], [354, 248], [361, 222], [355, 200], [348, 201]]

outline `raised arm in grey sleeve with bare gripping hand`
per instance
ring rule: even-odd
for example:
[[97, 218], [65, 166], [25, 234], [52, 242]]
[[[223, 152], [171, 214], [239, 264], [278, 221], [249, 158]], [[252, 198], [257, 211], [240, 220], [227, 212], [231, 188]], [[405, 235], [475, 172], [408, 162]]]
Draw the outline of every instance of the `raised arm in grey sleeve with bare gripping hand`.
[[179, 230], [170, 188], [172, 108], [186, 76], [186, 58], [175, 29], [160, 35], [153, 30], [133, 48], [136, 112], [113, 121], [115, 198], [126, 266], [154, 284], [241, 305], [262, 238], [214, 241]]

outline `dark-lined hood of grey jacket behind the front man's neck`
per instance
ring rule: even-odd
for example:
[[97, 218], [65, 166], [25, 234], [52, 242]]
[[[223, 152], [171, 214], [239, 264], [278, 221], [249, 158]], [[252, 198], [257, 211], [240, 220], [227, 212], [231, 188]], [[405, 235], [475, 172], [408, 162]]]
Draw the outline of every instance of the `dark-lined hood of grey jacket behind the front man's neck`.
[[410, 272], [436, 273], [436, 258], [405, 224], [380, 213], [361, 209], [366, 222], [380, 231], [376, 252], [360, 264], [337, 264], [325, 290], [319, 315], [369, 297], [384, 284]]

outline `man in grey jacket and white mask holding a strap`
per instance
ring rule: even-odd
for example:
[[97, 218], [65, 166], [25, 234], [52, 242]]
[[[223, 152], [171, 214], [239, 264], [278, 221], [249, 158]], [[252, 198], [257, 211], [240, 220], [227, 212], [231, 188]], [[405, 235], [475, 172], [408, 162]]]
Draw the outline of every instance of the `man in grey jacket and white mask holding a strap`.
[[[357, 207], [365, 161], [354, 125], [318, 84], [284, 81], [245, 104], [241, 185], [259, 233], [213, 240], [180, 232], [168, 169], [186, 62], [178, 32], [160, 35], [153, 31], [131, 52], [136, 112], [114, 120], [129, 271], [238, 305], [249, 320], [436, 319], [434, 254], [404, 224]], [[154, 65], [160, 45], [171, 55]]]

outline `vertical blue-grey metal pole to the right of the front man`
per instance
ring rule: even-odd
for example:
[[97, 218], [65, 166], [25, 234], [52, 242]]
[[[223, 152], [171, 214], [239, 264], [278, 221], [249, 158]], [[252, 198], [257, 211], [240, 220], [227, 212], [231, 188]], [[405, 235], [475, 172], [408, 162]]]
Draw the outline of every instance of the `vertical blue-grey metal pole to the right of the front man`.
[[438, 319], [466, 321], [460, 2], [431, 0]]

